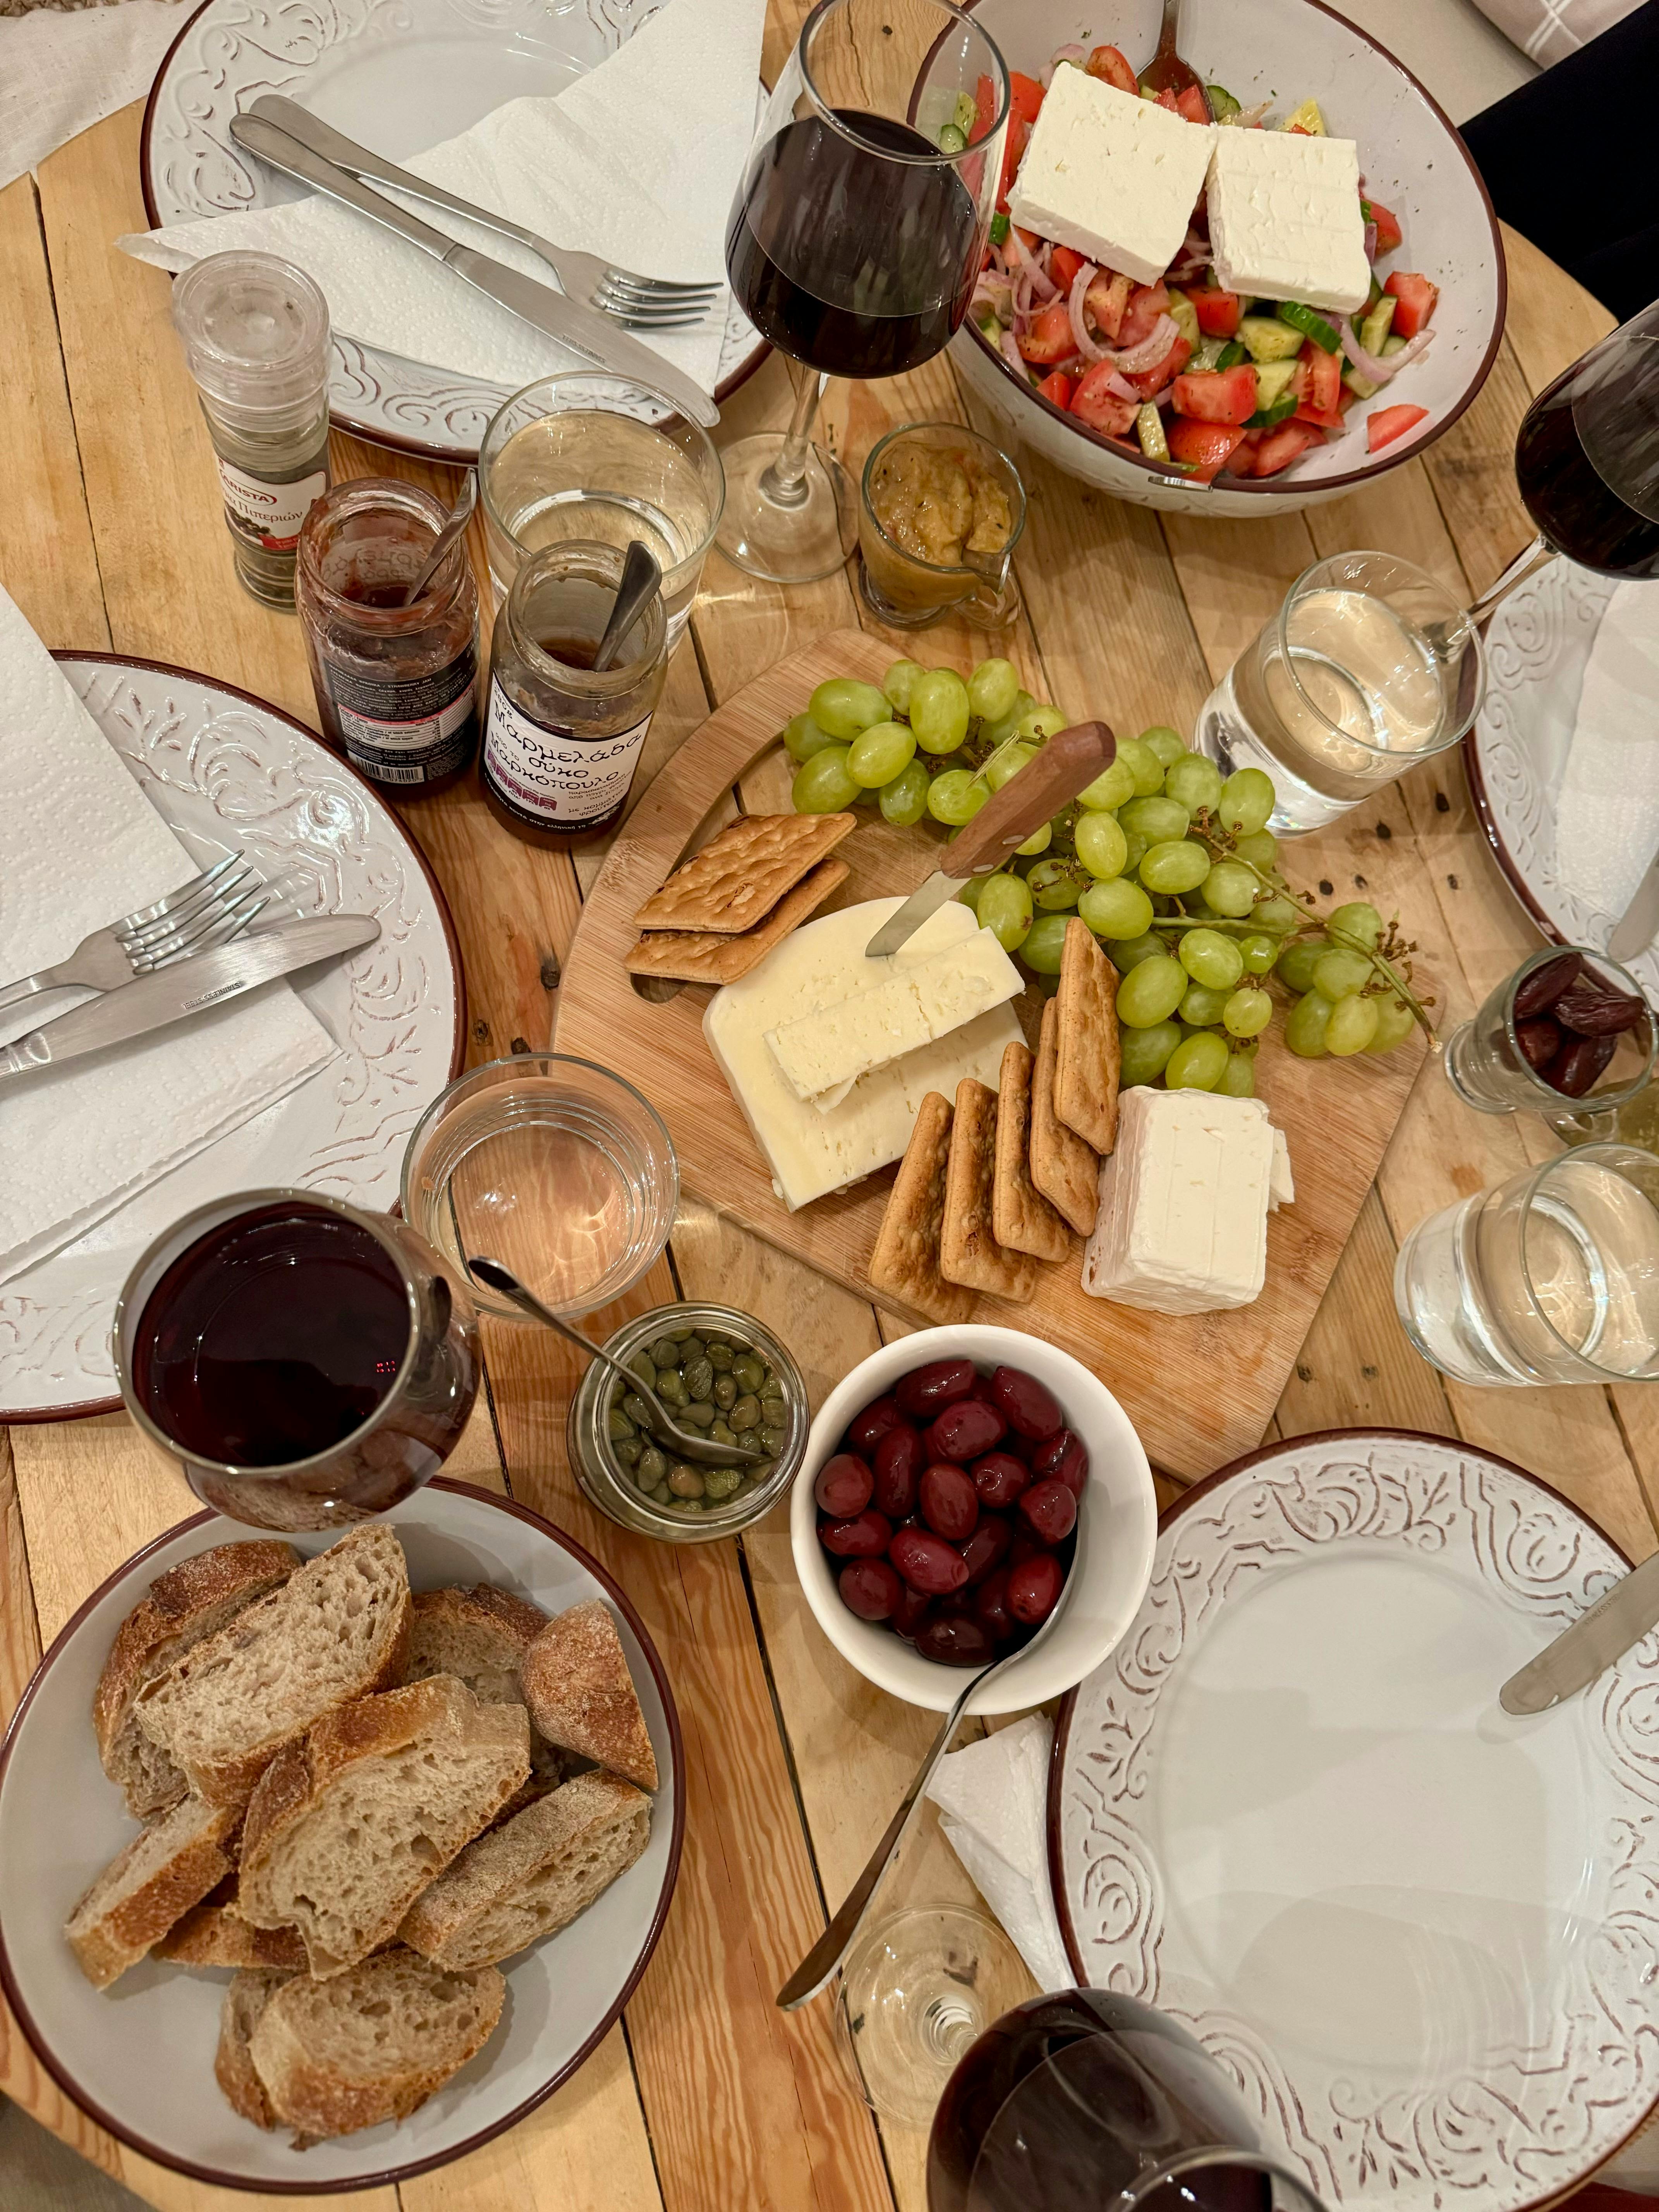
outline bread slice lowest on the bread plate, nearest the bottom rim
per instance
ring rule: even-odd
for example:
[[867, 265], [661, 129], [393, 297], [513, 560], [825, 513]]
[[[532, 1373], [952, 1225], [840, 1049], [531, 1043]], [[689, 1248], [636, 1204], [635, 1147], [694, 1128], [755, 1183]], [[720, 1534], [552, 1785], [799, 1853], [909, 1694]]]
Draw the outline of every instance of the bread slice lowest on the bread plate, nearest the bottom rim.
[[272, 1991], [248, 2051], [276, 2119], [312, 2141], [352, 2135], [422, 2106], [482, 2051], [504, 2002], [493, 1966], [449, 1973], [383, 1951], [332, 1982], [294, 1975]]

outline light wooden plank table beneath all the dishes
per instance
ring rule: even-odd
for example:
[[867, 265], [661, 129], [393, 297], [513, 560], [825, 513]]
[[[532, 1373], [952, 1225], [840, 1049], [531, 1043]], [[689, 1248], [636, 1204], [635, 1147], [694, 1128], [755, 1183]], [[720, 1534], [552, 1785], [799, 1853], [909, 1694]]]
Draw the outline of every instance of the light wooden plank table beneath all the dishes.
[[[774, 0], [768, 75], [801, 13], [803, 0]], [[133, 106], [53, 155], [38, 188], [22, 177], [0, 192], [0, 389], [11, 420], [0, 580], [49, 646], [206, 670], [314, 728], [296, 624], [254, 606], [230, 575], [208, 438], [168, 323], [168, 281], [111, 246], [144, 228], [137, 135]], [[1031, 462], [1026, 622], [1011, 644], [1031, 690], [1119, 730], [1190, 726], [1212, 679], [1316, 551], [1385, 546], [1460, 593], [1484, 584], [1528, 535], [1511, 471], [1526, 398], [1610, 323], [1524, 241], [1511, 239], [1509, 254], [1509, 338], [1482, 398], [1425, 460], [1358, 498], [1279, 522], [1159, 522]], [[776, 425], [785, 411], [783, 367], [768, 363], [728, 407], [721, 436]], [[860, 462], [894, 422], [940, 416], [962, 416], [945, 361], [898, 383], [832, 387], [827, 427]], [[345, 438], [334, 471], [407, 476], [445, 500], [453, 484], [453, 471]], [[648, 768], [781, 653], [858, 619], [845, 575], [785, 593], [714, 555]], [[909, 644], [896, 639], [894, 650]], [[933, 630], [922, 650], [967, 664], [973, 639]], [[471, 787], [409, 803], [405, 818], [456, 911], [471, 1057], [546, 1046], [560, 958], [597, 858], [571, 863], [518, 843]], [[1440, 1013], [1460, 1018], [1537, 940], [1486, 854], [1455, 752], [1298, 847], [1294, 865], [1318, 872], [1325, 891], [1354, 896], [1378, 838], [1416, 841], [1411, 933]], [[1460, 1389], [1411, 1352], [1394, 1318], [1396, 1241], [1429, 1210], [1509, 1175], [1537, 1141], [1524, 1121], [1469, 1113], [1438, 1066], [1425, 1068], [1270, 1433], [1383, 1422], [1464, 1436], [1546, 1475], [1646, 1557], [1659, 1517], [1652, 1396]], [[896, 1327], [697, 1206], [675, 1232], [672, 1272], [661, 1261], [644, 1298], [675, 1296], [675, 1276], [690, 1296], [779, 1318], [814, 1398]], [[794, 1586], [785, 1511], [741, 1542], [690, 1551], [622, 1535], [593, 1515], [564, 1464], [573, 1374], [557, 1340], [493, 1327], [487, 1356], [489, 1400], [480, 1398], [453, 1471], [511, 1484], [624, 1579], [679, 1697], [690, 1812], [668, 1927], [622, 2024], [535, 2117], [407, 2183], [403, 2205], [922, 2212], [920, 2139], [876, 2128], [843, 2075], [827, 2002], [785, 2017], [772, 1993], [821, 1931], [825, 1900], [838, 1902], [863, 1865], [933, 1717], [880, 1697], [830, 1650]], [[181, 1478], [137, 1447], [124, 1416], [18, 1427], [9, 1449], [0, 1431], [7, 1712], [80, 1599], [188, 1509]], [[889, 1878], [887, 1902], [945, 1893], [969, 1891], [929, 1820]], [[4, 2015], [0, 2088], [168, 2212], [252, 2201], [179, 2181], [102, 2135], [58, 2095]], [[392, 2197], [356, 2203], [392, 2212]]]

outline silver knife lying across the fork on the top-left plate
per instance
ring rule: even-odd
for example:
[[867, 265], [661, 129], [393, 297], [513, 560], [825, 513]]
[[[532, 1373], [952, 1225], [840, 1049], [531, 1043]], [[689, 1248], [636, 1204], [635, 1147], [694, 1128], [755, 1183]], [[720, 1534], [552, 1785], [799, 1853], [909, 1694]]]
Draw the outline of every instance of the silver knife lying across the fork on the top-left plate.
[[434, 230], [431, 223], [422, 223], [418, 215], [409, 215], [380, 192], [372, 192], [367, 184], [358, 184], [347, 170], [327, 161], [321, 153], [312, 153], [290, 131], [279, 131], [263, 115], [232, 115], [230, 135], [241, 148], [259, 155], [261, 161], [270, 161], [285, 177], [296, 177], [301, 184], [327, 192], [330, 199], [356, 208], [358, 215], [367, 215], [372, 223], [396, 230], [400, 239], [418, 246], [434, 261], [442, 261], [465, 283], [478, 292], [487, 292], [509, 314], [544, 330], [549, 338], [568, 345], [584, 361], [593, 361], [617, 376], [635, 376], [655, 392], [666, 392], [703, 429], [712, 429], [719, 422], [719, 407], [690, 376], [681, 374], [672, 361], [664, 361], [648, 345], [641, 345], [639, 338], [630, 338], [619, 323], [608, 314], [599, 314], [597, 307], [584, 307], [582, 301], [571, 299], [566, 292], [535, 283], [533, 276], [520, 276], [504, 261], [480, 254], [447, 232]]

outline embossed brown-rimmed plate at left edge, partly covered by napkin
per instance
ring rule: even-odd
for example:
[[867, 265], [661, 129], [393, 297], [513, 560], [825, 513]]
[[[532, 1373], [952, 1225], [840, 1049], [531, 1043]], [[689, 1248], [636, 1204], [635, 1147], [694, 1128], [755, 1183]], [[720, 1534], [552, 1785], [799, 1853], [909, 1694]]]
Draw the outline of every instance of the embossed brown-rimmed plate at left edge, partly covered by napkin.
[[374, 914], [380, 940], [294, 984], [341, 1046], [327, 1068], [0, 1287], [0, 1420], [119, 1405], [115, 1296], [150, 1239], [195, 1206], [305, 1188], [392, 1208], [403, 1146], [460, 1071], [467, 1026], [442, 891], [338, 754], [230, 684], [111, 653], [55, 659], [201, 867], [246, 852], [279, 891], [270, 918]]

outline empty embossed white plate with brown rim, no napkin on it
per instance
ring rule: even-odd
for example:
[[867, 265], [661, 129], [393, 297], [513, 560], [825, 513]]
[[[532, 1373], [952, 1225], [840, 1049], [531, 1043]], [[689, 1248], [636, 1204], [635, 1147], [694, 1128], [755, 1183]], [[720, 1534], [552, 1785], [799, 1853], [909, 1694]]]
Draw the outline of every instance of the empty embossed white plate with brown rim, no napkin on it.
[[1659, 2097], [1659, 1635], [1498, 1705], [1624, 1571], [1504, 1460], [1298, 1438], [1170, 1509], [1062, 1712], [1073, 1971], [1188, 2026], [1327, 2205], [1522, 2212]]

